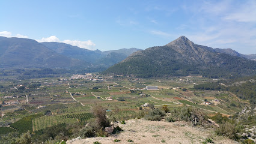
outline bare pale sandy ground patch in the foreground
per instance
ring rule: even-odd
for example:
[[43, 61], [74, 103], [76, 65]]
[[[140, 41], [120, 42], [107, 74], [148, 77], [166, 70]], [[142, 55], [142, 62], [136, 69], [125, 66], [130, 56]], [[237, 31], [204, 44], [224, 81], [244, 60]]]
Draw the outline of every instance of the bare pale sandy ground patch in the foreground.
[[[146, 121], [144, 119], [130, 119], [126, 124], [119, 124], [124, 130], [109, 137], [93, 137], [87, 139], [68, 140], [68, 144], [82, 144], [98, 141], [107, 143], [203, 143], [212, 138], [214, 143], [238, 143], [227, 137], [216, 136], [213, 130], [191, 127], [187, 122]], [[115, 139], [121, 140], [114, 142]], [[133, 142], [127, 142], [133, 140]]]

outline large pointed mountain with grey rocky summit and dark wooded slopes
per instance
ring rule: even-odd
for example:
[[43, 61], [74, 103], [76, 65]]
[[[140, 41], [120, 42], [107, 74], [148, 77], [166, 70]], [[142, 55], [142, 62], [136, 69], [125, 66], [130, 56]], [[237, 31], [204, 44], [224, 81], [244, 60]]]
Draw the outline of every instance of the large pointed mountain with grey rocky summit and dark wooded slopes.
[[165, 46], [150, 47], [132, 53], [124, 61], [108, 68], [105, 74], [138, 77], [187, 76], [230, 77], [256, 74], [256, 61], [213, 51], [184, 36]]

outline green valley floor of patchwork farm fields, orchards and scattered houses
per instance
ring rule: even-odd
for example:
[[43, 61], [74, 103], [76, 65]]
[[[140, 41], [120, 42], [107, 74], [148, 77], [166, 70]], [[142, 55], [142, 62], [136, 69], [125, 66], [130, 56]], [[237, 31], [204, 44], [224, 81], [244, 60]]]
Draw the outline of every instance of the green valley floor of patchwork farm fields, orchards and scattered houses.
[[[237, 98], [231, 92], [194, 89], [194, 85], [215, 82], [203, 77], [102, 79], [45, 77], [1, 81], [4, 88], [0, 89], [0, 99], [4, 103], [1, 106], [0, 128], [6, 133], [25, 133], [28, 130], [46, 130], [58, 124], [85, 124], [93, 119], [91, 107], [95, 104], [106, 108], [111, 121], [139, 118], [141, 109], [148, 109], [144, 107], [147, 103], [160, 109], [166, 105], [170, 110], [185, 105], [196, 107], [209, 116], [218, 112], [232, 116], [248, 106], [248, 101]], [[146, 86], [158, 86], [158, 90], [148, 91]]]

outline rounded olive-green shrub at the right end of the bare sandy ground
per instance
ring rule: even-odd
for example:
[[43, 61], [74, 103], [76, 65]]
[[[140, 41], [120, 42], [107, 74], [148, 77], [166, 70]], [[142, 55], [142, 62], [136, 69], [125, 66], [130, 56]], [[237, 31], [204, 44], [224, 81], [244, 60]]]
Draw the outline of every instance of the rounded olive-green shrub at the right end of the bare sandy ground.
[[230, 139], [237, 140], [239, 139], [237, 133], [241, 130], [240, 125], [232, 124], [231, 122], [225, 122], [220, 124], [216, 129], [216, 133], [221, 136], [226, 136]]

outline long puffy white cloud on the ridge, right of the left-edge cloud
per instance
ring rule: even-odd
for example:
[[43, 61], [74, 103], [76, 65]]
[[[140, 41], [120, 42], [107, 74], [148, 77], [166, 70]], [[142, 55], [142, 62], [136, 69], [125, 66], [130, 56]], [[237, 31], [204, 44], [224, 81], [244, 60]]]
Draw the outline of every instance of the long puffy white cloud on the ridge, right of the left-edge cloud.
[[81, 48], [84, 48], [84, 49], [90, 49], [90, 50], [93, 50], [94, 47], [96, 46], [96, 44], [94, 44], [93, 41], [91, 41], [91, 40], [88, 40], [88, 41], [78, 41], [78, 40], [64, 40], [64, 41], [61, 41], [55, 35], [52, 35], [52, 36], [47, 37], [47, 38], [43, 37], [43, 38], [41, 38], [41, 40], [36, 40], [36, 41], [38, 41], [40, 43], [42, 43], [42, 42], [66, 43], [66, 44], [70, 44], [72, 46], [78, 46], [78, 47], [81, 47]]

